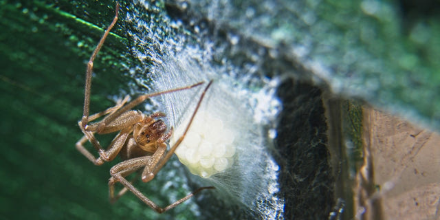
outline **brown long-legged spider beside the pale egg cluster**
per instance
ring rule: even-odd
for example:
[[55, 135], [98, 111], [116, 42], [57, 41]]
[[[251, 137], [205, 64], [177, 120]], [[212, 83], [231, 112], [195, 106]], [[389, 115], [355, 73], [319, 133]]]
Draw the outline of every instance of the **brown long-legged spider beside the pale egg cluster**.
[[[96, 46], [93, 54], [89, 59], [87, 64], [86, 78], [85, 78], [85, 98], [84, 98], [84, 109], [83, 118], [78, 122], [81, 131], [83, 131], [84, 136], [76, 142], [76, 148], [80, 153], [82, 153], [87, 159], [93, 162], [95, 165], [101, 165], [104, 162], [110, 162], [115, 159], [117, 155], [123, 159], [122, 162], [116, 164], [110, 169], [111, 178], [109, 179], [109, 197], [111, 202], [116, 201], [120, 196], [122, 196], [127, 190], [133, 192], [133, 194], [139, 197], [140, 200], [144, 201], [146, 205], [150, 206], [156, 212], [162, 213], [180, 203], [190, 199], [197, 192], [204, 189], [213, 189], [213, 186], [201, 187], [190, 193], [186, 197], [183, 197], [174, 203], [161, 208], [157, 206], [156, 203], [148, 199], [142, 192], [137, 190], [133, 186], [131, 181], [127, 181], [125, 177], [131, 173], [135, 173], [140, 168], [144, 168], [142, 171], [142, 181], [151, 181], [159, 170], [166, 164], [168, 159], [173, 155], [177, 146], [184, 140], [184, 137], [192, 123], [192, 119], [195, 117], [197, 110], [205, 96], [206, 91], [212, 84], [212, 80], [203, 90], [195, 111], [192, 113], [190, 122], [186, 126], [184, 133], [179, 137], [179, 140], [170, 147], [169, 151], [166, 151], [166, 141], [173, 133], [173, 127], [170, 131], [166, 132], [167, 126], [162, 120], [157, 120], [157, 118], [164, 117], [165, 114], [162, 112], [153, 113], [151, 115], [145, 115], [141, 111], [131, 110], [137, 104], [140, 104], [144, 100], [151, 98], [153, 96], [159, 96], [162, 94], [171, 93], [174, 91], [180, 91], [184, 89], [191, 89], [197, 87], [201, 83], [196, 83], [187, 87], [181, 87], [177, 89], [170, 89], [167, 91], [159, 91], [153, 94], [145, 94], [137, 97], [135, 100], [128, 102], [129, 96], [126, 96], [123, 100], [120, 100], [115, 104], [114, 107], [106, 109], [100, 113], [94, 115], [89, 115], [89, 104], [90, 104], [90, 87], [91, 87], [91, 73], [93, 70], [94, 59], [100, 48], [104, 44], [107, 35], [109, 34], [113, 25], [118, 21], [118, 10], [119, 3], [116, 3], [115, 17], [113, 22], [109, 25], [109, 28], [104, 32], [102, 38], [100, 39], [98, 45]], [[128, 103], [127, 103], [128, 102]], [[105, 116], [104, 116], [105, 115]], [[99, 122], [92, 122], [100, 117], [104, 116]], [[95, 133], [97, 134], [107, 134], [119, 131], [118, 135], [111, 141], [107, 150], [104, 150], [98, 140], [96, 140]], [[85, 142], [91, 142], [91, 144], [96, 148], [99, 153], [99, 157], [96, 158], [90, 151], [88, 151], [84, 144]], [[124, 188], [118, 192], [115, 196], [115, 184], [120, 182]]]

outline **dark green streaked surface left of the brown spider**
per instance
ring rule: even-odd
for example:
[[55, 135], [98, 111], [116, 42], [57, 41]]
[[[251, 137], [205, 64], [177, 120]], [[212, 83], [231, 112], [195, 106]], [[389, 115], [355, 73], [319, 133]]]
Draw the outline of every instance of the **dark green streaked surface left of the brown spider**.
[[[114, 5], [0, 1], [1, 219], [144, 216], [146, 208], [133, 197], [124, 207], [111, 206], [111, 164], [94, 166], [74, 147], [82, 136], [77, 121], [83, 114], [85, 62], [111, 22]], [[126, 83], [120, 74], [125, 43], [112, 34], [96, 62], [96, 72], [105, 74], [94, 78], [91, 112], [112, 106], [107, 96]]]

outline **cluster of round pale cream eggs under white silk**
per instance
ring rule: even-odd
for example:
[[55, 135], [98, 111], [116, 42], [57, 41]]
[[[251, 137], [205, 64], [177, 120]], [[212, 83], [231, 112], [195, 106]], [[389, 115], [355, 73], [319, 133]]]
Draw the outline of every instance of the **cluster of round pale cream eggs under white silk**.
[[[178, 137], [173, 135], [170, 143], [175, 143]], [[235, 133], [223, 126], [216, 115], [199, 111], [175, 154], [191, 173], [208, 178], [232, 166], [236, 153], [234, 138]]]

